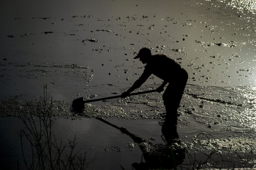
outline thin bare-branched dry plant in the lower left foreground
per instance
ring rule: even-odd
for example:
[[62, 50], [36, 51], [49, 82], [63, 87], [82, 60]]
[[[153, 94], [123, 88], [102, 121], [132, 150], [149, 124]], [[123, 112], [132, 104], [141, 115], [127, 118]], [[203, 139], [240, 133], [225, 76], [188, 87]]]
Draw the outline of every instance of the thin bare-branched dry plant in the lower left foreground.
[[[26, 107], [20, 114], [20, 119], [25, 125], [25, 129], [21, 129], [20, 136], [23, 160], [28, 170], [78, 170], [85, 169], [91, 162], [86, 161], [86, 152], [76, 153], [76, 138], [69, 141], [69, 145], [63, 143], [62, 139], [56, 138], [52, 131], [52, 98], [47, 95], [47, 86], [44, 86], [44, 95], [40, 98], [37, 107], [31, 107], [27, 112]], [[32, 162], [26, 159], [28, 152], [24, 150], [23, 138], [31, 145]], [[70, 151], [67, 151], [67, 146]]]

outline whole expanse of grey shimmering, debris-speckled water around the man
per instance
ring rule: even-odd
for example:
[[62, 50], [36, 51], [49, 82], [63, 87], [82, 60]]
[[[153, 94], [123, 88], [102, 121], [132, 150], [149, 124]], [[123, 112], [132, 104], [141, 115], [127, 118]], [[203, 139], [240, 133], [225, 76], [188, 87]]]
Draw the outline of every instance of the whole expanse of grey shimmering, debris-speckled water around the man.
[[[138, 146], [127, 147], [134, 143], [129, 136], [94, 117], [164, 143], [162, 94], [94, 102], [82, 113], [70, 107], [74, 98], [109, 97], [130, 87], [144, 67], [134, 54], [146, 46], [189, 73], [178, 109], [177, 132], [188, 150], [181, 166], [215, 151], [224, 167], [255, 168], [255, 1], [13, 2], [0, 7], [0, 111], [7, 117], [1, 121], [2, 162], [17, 156], [6, 167], [21, 159], [16, 131], [22, 124], [10, 116], [26, 101], [36, 105], [45, 84], [55, 130], [64, 138], [77, 134], [88, 159], [96, 155], [90, 169], [130, 169], [142, 155]], [[138, 91], [160, 83], [152, 76]]]

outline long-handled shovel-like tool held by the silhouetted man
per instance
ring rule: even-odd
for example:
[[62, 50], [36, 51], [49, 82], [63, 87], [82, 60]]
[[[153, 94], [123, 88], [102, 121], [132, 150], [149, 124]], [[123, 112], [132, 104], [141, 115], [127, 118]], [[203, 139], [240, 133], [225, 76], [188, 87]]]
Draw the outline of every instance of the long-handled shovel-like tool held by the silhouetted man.
[[[146, 93], [151, 93], [151, 92], [156, 92], [156, 90], [148, 90], [148, 91], [140, 91], [140, 92], [130, 93], [128, 96], [141, 95], [141, 94], [146, 94]], [[79, 111], [84, 108], [84, 103], [109, 100], [112, 98], [119, 98], [119, 97], [121, 97], [121, 95], [111, 96], [111, 97], [103, 97], [103, 98], [97, 98], [97, 99], [91, 99], [91, 100], [84, 100], [83, 97], [80, 97], [80, 98], [76, 98], [75, 100], [73, 100], [72, 107], [75, 110]]]

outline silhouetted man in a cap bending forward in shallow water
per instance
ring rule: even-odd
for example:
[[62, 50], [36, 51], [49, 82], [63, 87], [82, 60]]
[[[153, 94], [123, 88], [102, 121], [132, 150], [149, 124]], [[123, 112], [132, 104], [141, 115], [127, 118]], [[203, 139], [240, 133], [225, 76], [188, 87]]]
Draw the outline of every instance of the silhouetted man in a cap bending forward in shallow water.
[[164, 105], [167, 117], [172, 125], [177, 125], [177, 109], [180, 105], [181, 97], [185, 89], [188, 74], [184, 68], [166, 55], [151, 55], [151, 50], [142, 48], [134, 59], [139, 58], [143, 64], [146, 64], [143, 74], [134, 82], [132, 87], [123, 92], [122, 97], [127, 97], [130, 92], [140, 87], [151, 74], [164, 80], [161, 86], [156, 90], [161, 92], [164, 86], [169, 83], [163, 94]]

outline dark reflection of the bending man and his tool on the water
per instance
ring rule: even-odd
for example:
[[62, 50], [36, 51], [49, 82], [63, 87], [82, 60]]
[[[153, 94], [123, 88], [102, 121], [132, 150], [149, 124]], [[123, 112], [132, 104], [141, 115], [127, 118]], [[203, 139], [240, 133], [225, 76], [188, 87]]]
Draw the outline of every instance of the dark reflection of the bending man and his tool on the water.
[[175, 168], [177, 165], [182, 164], [185, 160], [185, 146], [181, 144], [177, 133], [177, 126], [169, 124], [169, 120], [165, 120], [162, 124], [162, 134], [165, 138], [166, 144], [162, 143], [153, 144], [146, 139], [138, 137], [125, 128], [120, 128], [103, 118], [96, 118], [114, 128], [120, 130], [122, 133], [130, 136], [135, 143], [139, 145], [143, 153], [145, 162], [133, 163], [132, 166], [136, 170], [144, 169], [156, 169], [164, 168], [170, 169]]

